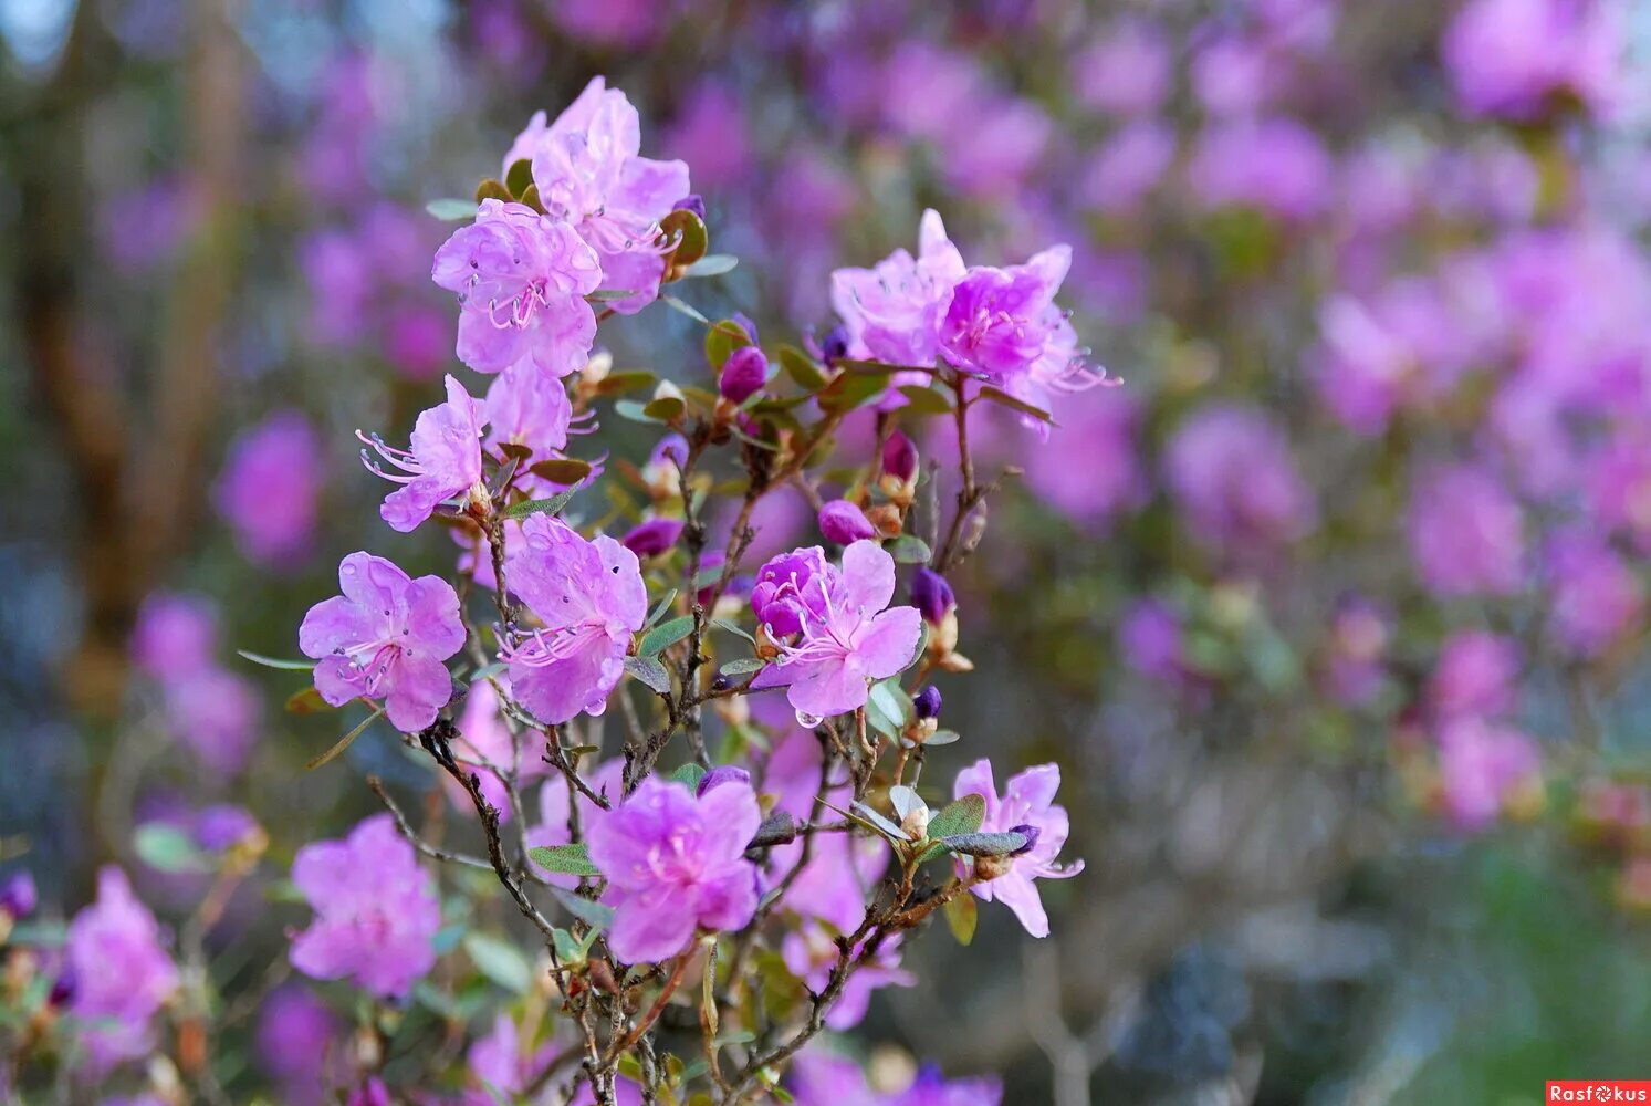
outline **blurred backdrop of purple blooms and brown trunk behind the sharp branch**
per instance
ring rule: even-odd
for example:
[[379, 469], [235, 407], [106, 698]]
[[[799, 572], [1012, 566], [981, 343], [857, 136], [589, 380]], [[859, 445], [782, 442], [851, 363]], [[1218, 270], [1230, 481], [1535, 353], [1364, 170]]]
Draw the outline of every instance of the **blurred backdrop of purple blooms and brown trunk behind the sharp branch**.
[[[911, 943], [865, 1040], [1062, 1106], [1643, 1078], [1648, 61], [1606, 0], [0, 0], [0, 875], [46, 924], [119, 862], [177, 924], [139, 827], [249, 811], [210, 964], [231, 1099], [281, 1101], [286, 865], [433, 781], [378, 731], [305, 773], [337, 721], [234, 649], [292, 655], [352, 550], [451, 570], [352, 434], [456, 365], [424, 203], [601, 73], [741, 259], [712, 317], [821, 333], [934, 206], [969, 261], [1070, 243], [1124, 381], [981, 426], [1024, 475], [943, 685], [944, 774], [1058, 761], [1088, 870], [1048, 941]], [[603, 342], [708, 373], [664, 307]], [[157, 594], [211, 664], [132, 664]]]

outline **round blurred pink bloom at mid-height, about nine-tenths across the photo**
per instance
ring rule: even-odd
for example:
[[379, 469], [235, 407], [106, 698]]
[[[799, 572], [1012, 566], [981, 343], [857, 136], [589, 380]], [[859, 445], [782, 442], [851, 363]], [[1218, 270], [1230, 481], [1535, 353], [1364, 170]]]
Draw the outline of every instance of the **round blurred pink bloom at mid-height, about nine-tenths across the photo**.
[[1423, 472], [1408, 527], [1410, 556], [1435, 596], [1507, 594], [1524, 579], [1524, 512], [1478, 466]]

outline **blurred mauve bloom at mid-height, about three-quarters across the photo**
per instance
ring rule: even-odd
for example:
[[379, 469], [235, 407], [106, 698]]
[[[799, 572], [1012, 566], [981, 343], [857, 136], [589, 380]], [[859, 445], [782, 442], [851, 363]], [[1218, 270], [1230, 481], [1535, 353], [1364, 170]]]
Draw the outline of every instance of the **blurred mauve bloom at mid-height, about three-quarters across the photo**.
[[1166, 449], [1166, 477], [1200, 543], [1255, 553], [1294, 541], [1314, 523], [1313, 499], [1273, 419], [1220, 404], [1182, 423]]

